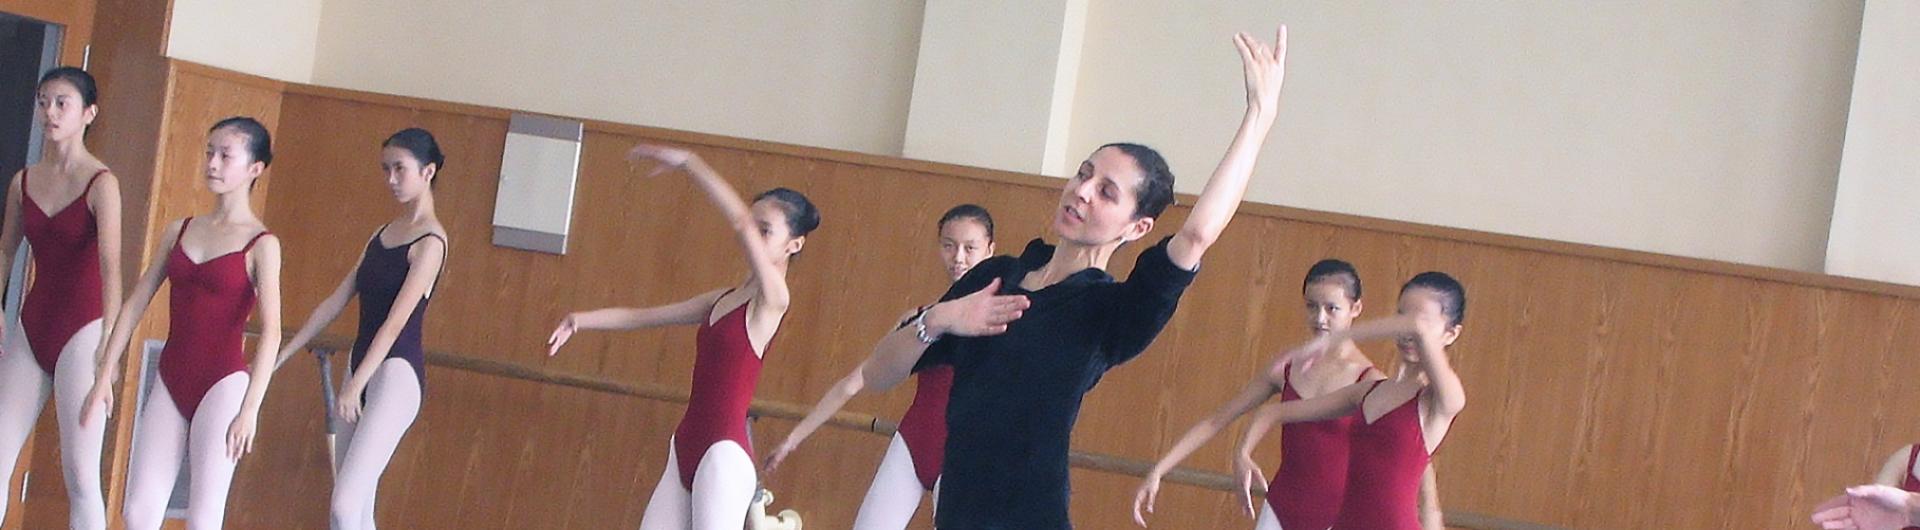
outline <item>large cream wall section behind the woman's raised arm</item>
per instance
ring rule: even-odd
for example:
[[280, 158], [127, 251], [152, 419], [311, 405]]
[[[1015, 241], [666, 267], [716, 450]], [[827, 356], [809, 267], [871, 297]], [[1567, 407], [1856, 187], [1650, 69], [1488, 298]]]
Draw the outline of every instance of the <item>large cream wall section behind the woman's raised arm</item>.
[[1859, 2], [1094, 2], [1069, 146], [1198, 190], [1229, 35], [1292, 31], [1250, 200], [1820, 271]]

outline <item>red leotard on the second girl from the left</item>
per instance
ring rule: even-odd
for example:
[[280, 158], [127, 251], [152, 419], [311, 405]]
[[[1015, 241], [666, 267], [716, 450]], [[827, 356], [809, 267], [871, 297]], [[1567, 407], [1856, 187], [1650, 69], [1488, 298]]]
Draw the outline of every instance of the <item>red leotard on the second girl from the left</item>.
[[246, 371], [242, 332], [253, 311], [253, 278], [246, 271], [246, 253], [267, 232], [255, 234], [244, 248], [194, 263], [180, 248], [186, 225], [167, 255], [169, 301], [167, 348], [159, 351], [159, 380], [173, 394], [173, 405], [188, 421], [200, 409], [200, 399], [215, 382]]

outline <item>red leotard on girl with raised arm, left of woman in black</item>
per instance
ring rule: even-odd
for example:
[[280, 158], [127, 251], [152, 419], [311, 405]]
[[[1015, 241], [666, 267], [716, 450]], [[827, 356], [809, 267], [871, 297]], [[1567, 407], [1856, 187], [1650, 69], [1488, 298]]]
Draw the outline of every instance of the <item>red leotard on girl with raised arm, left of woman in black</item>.
[[[710, 309], [707, 313], [712, 315]], [[747, 444], [747, 407], [753, 405], [758, 382], [760, 355], [755, 355], [753, 340], [747, 338], [747, 303], [733, 307], [720, 321], [703, 321], [695, 336], [687, 415], [674, 428], [680, 486], [693, 490], [693, 472], [701, 469], [701, 459], [714, 444], [732, 440], [753, 459], [753, 444]]]

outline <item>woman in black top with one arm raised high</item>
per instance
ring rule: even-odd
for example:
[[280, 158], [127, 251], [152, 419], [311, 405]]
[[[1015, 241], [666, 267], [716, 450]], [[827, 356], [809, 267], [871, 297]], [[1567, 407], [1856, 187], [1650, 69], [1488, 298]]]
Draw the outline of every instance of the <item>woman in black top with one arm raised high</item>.
[[947, 455], [935, 526], [1071, 528], [1068, 447], [1081, 399], [1100, 376], [1152, 344], [1233, 219], [1279, 111], [1286, 29], [1273, 46], [1236, 35], [1246, 115], [1227, 156], [1173, 236], [1140, 252], [1125, 282], [1114, 252], [1144, 238], [1173, 202], [1158, 152], [1108, 144], [1066, 181], [1052, 215], [1058, 248], [981, 261], [887, 334], [866, 361], [874, 390], [950, 365]]

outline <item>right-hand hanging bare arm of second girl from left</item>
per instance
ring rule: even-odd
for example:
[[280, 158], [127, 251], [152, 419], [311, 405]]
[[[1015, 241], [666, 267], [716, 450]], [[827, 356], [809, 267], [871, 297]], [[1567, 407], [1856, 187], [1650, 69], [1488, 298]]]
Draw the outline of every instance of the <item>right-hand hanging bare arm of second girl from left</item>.
[[259, 405], [267, 401], [267, 384], [273, 382], [275, 361], [280, 353], [280, 238], [261, 236], [248, 252], [248, 265], [253, 269], [253, 305], [259, 311], [259, 342], [253, 346], [253, 363], [248, 365], [246, 398], [240, 413], [227, 426], [227, 457], [240, 461], [253, 451], [253, 434], [259, 426]]

